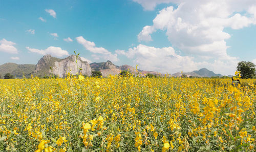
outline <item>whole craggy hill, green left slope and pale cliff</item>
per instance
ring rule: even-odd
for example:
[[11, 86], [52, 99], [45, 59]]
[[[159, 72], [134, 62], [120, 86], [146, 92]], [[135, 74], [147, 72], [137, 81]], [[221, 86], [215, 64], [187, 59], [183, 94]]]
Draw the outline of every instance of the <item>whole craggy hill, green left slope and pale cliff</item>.
[[[36, 69], [33, 74], [44, 77], [49, 76], [51, 73], [59, 77], [65, 77], [66, 73], [69, 72], [73, 75], [77, 73], [76, 56], [71, 55], [64, 59], [52, 57], [51, 55], [45, 55], [36, 64]], [[91, 76], [91, 67], [87, 61], [82, 61], [80, 57], [77, 58], [79, 73], [83, 75]], [[52, 70], [51, 70], [52, 69]]]

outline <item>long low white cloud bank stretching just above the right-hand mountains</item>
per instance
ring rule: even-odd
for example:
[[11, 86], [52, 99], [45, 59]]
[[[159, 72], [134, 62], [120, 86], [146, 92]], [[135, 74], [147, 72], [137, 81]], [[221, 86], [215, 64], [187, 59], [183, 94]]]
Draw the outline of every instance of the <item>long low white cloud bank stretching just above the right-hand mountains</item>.
[[128, 51], [116, 50], [118, 55], [124, 55], [133, 60], [141, 70], [150, 70], [160, 73], [174, 74], [176, 72], [192, 72], [201, 68], [207, 68], [215, 73], [223, 75], [232, 74], [236, 70], [238, 60], [229, 58], [225, 61], [216, 59], [212, 62], [196, 62], [194, 57], [178, 55], [172, 47], [155, 48], [138, 45]]

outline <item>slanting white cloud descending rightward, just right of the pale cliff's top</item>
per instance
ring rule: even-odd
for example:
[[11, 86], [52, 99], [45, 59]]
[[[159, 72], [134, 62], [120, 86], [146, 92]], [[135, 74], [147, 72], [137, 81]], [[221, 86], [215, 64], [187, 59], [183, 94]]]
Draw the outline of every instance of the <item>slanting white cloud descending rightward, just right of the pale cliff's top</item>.
[[112, 54], [108, 50], [102, 47], [96, 47], [95, 43], [89, 40], [84, 39], [82, 36], [76, 37], [76, 40], [79, 44], [81, 44], [88, 51], [94, 53], [92, 57], [94, 59], [103, 58], [105, 60], [118, 61], [117, 54]]

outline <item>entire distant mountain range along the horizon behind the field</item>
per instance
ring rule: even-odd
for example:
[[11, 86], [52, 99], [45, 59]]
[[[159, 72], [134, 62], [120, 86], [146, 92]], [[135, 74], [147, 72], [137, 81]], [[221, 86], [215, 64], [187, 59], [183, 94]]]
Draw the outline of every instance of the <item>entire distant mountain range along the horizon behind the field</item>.
[[[154, 71], [143, 71], [143, 70], [135, 70], [134, 67], [129, 65], [116, 66], [111, 61], [99, 62], [99, 63], [91, 63], [89, 64], [87, 61], [83, 61], [80, 57], [77, 58], [78, 68], [82, 70], [77, 71], [76, 66], [76, 56], [70, 55], [66, 58], [60, 59], [56, 57], [52, 57], [51, 55], [45, 55], [39, 59], [38, 63], [35, 64], [16, 64], [16, 63], [5, 63], [0, 66], [0, 75], [2, 77], [6, 73], [11, 73], [16, 77], [23, 77], [32, 75], [37, 75], [38, 77], [49, 76], [51, 74], [57, 75], [59, 77], [65, 77], [67, 72], [71, 74], [76, 74], [78, 71], [84, 75], [91, 76], [92, 71], [100, 71], [103, 77], [107, 77], [111, 75], [118, 75], [122, 70], [129, 70], [130, 72], [136, 74], [137, 71], [144, 76], [147, 73], [159, 75], [158, 72]], [[175, 73], [170, 76], [180, 77], [182, 74], [186, 76], [194, 76], [194, 77], [222, 77], [221, 74], [215, 74], [212, 71], [207, 70], [206, 68], [200, 69], [198, 71], [193, 72], [185, 72], [185, 73]], [[164, 74], [161, 74], [162, 76]]]

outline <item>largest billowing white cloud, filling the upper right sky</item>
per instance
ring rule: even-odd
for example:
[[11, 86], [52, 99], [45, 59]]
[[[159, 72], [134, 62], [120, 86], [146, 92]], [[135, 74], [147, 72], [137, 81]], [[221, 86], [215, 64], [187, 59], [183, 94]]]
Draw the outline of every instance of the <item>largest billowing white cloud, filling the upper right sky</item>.
[[[145, 5], [158, 4], [157, 1], [136, 0]], [[145, 26], [138, 34], [139, 41], [151, 41], [151, 34], [157, 30], [166, 31], [170, 43], [189, 54], [230, 59], [227, 55], [226, 39], [230, 35], [224, 28], [242, 29], [256, 24], [256, 1], [216, 0], [216, 1], [159, 1], [175, 3], [159, 11], [153, 25]], [[155, 5], [153, 5], [155, 6]], [[247, 14], [243, 13], [246, 12]], [[245, 14], [245, 15], [243, 15]], [[234, 59], [234, 58], [233, 58]]]

